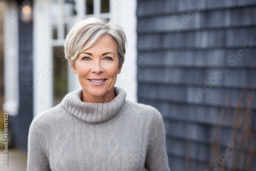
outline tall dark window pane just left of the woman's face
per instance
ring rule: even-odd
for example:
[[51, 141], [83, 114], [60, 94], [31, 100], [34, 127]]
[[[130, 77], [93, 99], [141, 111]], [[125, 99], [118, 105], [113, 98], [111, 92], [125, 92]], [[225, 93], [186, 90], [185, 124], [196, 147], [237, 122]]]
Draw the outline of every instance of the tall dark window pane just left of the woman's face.
[[53, 103], [57, 105], [68, 92], [67, 60], [63, 47], [53, 47]]

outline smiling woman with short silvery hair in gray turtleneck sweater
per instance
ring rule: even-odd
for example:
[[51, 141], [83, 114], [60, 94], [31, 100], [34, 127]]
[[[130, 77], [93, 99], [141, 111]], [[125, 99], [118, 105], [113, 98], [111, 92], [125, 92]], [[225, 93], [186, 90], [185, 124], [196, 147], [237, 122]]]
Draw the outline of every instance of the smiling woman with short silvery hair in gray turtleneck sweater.
[[160, 113], [114, 87], [125, 45], [123, 29], [104, 19], [71, 29], [65, 56], [82, 89], [34, 118], [28, 170], [169, 170]]

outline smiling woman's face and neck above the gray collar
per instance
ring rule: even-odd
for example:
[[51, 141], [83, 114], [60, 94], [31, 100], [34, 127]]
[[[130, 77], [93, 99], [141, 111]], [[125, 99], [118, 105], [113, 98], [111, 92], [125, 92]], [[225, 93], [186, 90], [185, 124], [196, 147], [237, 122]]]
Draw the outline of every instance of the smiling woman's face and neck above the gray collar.
[[77, 74], [85, 102], [108, 102], [114, 95], [114, 84], [120, 73], [116, 41], [110, 35], [99, 38], [81, 52], [71, 69]]

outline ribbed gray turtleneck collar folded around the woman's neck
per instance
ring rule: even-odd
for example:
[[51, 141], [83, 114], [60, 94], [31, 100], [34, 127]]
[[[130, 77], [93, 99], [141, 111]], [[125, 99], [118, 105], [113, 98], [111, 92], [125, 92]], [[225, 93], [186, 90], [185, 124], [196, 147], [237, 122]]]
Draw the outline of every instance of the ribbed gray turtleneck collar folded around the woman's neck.
[[81, 101], [82, 90], [77, 90], [67, 94], [61, 101], [61, 106], [83, 121], [105, 122], [117, 114], [126, 97], [121, 88], [114, 87], [114, 92], [116, 97], [108, 103], [87, 103]]

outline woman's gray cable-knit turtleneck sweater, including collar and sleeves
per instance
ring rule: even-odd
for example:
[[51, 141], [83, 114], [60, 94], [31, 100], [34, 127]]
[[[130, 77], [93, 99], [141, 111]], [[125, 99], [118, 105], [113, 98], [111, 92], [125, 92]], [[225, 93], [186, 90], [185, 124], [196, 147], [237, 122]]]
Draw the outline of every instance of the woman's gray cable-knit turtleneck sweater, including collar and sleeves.
[[37, 115], [28, 139], [28, 170], [170, 170], [164, 124], [153, 107], [125, 100], [81, 101], [82, 90]]

